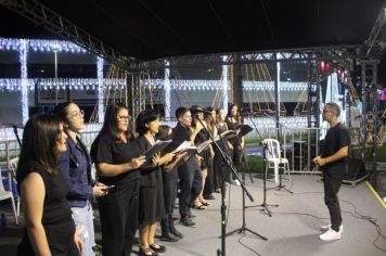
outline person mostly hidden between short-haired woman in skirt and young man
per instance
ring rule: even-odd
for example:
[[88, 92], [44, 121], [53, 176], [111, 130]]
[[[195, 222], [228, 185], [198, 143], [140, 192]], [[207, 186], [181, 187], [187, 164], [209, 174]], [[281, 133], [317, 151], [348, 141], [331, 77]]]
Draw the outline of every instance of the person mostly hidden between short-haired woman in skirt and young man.
[[[159, 126], [156, 138], [162, 141], [169, 140], [170, 138], [172, 138], [172, 129], [169, 126]], [[165, 149], [164, 153], [166, 153], [167, 150], [168, 149]], [[175, 227], [172, 216], [178, 187], [177, 168], [188, 158], [188, 152], [177, 153], [175, 158], [169, 164], [163, 166], [165, 216], [160, 220], [160, 241], [177, 242], [180, 239], [183, 239], [183, 234]]]

